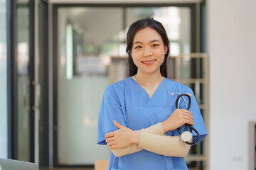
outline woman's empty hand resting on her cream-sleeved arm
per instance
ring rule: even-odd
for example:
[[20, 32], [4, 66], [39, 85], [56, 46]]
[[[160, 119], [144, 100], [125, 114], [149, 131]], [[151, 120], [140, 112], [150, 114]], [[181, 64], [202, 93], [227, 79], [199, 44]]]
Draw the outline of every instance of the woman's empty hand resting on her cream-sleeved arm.
[[139, 144], [140, 132], [131, 130], [114, 120], [114, 125], [119, 129], [105, 135], [107, 146], [110, 149], [122, 149], [133, 144]]

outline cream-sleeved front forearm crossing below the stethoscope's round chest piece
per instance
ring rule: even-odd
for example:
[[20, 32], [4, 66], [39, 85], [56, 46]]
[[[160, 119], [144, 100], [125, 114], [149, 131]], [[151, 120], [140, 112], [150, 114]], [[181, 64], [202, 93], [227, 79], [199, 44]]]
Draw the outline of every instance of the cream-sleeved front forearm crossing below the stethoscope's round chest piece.
[[180, 136], [160, 136], [142, 130], [138, 148], [169, 157], [186, 157], [191, 145]]

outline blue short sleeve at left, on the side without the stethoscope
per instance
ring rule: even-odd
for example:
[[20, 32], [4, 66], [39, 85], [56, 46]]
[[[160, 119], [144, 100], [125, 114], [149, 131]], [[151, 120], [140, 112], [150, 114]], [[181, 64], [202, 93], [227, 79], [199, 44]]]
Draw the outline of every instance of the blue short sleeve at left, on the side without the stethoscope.
[[105, 89], [100, 105], [97, 126], [97, 144], [107, 145], [105, 142], [105, 135], [108, 132], [117, 130], [117, 127], [114, 125], [114, 120], [117, 120], [118, 123], [126, 126], [119, 98], [112, 85], [110, 85]]

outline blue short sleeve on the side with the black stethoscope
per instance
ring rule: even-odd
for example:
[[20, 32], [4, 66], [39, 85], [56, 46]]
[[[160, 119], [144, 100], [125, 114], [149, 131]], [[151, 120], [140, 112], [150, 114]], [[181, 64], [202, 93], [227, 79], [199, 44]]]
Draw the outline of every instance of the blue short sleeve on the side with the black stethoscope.
[[[187, 87], [185, 93], [187, 94], [192, 94], [191, 96], [191, 107], [189, 109], [189, 111], [192, 113], [193, 115], [193, 121], [194, 121], [194, 125], [193, 128], [195, 128], [198, 133], [199, 133], [199, 140], [198, 142], [201, 142], [206, 135], [208, 134], [207, 130], [206, 130], [206, 126], [203, 123], [203, 118], [201, 115], [201, 111], [198, 107], [198, 103], [196, 101], [195, 95], [193, 94], [193, 91]], [[186, 103], [188, 104], [188, 97], [184, 96]], [[181, 109], [186, 109], [186, 104], [183, 101], [183, 99], [181, 98], [181, 102], [180, 102], [180, 108]], [[186, 129], [186, 125], [181, 126], [181, 132], [183, 132]], [[178, 129], [174, 130], [174, 135], [180, 135], [178, 132]], [[198, 137], [198, 135], [196, 134], [196, 132], [192, 131], [192, 135], [193, 135], [193, 141], [195, 141]], [[196, 142], [194, 145], [196, 145], [198, 142]]]

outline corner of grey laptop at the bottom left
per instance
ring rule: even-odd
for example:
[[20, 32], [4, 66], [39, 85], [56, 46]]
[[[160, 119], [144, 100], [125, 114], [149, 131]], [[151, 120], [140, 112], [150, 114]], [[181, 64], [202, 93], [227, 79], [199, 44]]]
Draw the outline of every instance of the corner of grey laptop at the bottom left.
[[38, 170], [36, 164], [0, 158], [0, 170]]

